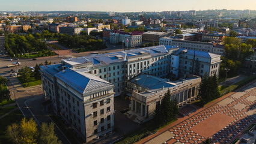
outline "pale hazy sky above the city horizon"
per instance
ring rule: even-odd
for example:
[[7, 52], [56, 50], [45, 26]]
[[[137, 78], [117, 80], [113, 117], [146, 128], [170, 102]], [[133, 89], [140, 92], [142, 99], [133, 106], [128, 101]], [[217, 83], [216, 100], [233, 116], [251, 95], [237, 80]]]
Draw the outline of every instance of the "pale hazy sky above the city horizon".
[[255, 0], [0, 0], [0, 11], [255, 10]]

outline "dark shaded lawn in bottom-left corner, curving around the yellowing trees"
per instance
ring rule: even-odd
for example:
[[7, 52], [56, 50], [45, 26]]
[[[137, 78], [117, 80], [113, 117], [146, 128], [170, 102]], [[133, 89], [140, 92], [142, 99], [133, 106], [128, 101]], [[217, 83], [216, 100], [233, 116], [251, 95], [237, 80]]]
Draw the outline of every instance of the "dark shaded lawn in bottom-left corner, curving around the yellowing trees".
[[5, 116], [4, 118], [0, 119], [0, 143], [2, 144], [11, 143], [5, 135], [7, 126], [14, 122], [20, 122], [22, 118], [23, 118], [22, 112], [20, 112], [20, 110], [16, 110], [10, 113], [9, 115]]

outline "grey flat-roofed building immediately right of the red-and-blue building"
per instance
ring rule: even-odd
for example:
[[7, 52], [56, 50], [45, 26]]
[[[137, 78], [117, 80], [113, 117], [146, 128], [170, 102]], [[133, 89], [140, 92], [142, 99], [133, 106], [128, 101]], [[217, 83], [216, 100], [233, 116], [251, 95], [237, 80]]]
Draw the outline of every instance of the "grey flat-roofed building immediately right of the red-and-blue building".
[[154, 32], [148, 31], [142, 34], [143, 41], [159, 41], [159, 38], [166, 37], [168, 35], [167, 32]]

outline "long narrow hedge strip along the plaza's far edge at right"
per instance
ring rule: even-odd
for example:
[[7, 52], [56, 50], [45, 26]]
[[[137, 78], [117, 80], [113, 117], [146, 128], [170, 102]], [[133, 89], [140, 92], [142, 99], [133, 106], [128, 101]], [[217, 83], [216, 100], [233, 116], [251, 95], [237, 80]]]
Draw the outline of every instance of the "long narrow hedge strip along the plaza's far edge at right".
[[256, 79], [256, 74], [252, 75], [252, 76], [249, 76], [249, 77], [246, 77], [245, 79], [240, 80], [239, 82], [234, 83], [231, 86], [228, 86], [228, 88], [222, 89], [221, 91], [219, 91], [219, 94], [222, 97], [223, 95], [228, 94], [231, 91], [234, 91], [235, 89], [239, 88], [240, 86], [245, 85], [246, 83], [251, 82], [254, 79]]

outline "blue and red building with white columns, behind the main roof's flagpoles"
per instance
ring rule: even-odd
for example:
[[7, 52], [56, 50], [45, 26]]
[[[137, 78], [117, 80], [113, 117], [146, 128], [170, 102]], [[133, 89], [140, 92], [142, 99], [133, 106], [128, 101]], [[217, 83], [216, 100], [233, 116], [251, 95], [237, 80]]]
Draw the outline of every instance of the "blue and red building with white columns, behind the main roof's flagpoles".
[[142, 32], [134, 31], [134, 32], [123, 32], [123, 31], [115, 31], [110, 32], [110, 43], [118, 44], [123, 43], [124, 46], [128, 47], [138, 47], [142, 44]]

